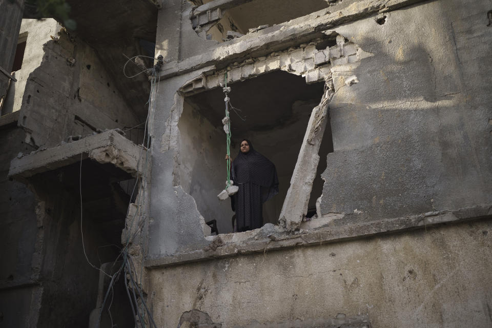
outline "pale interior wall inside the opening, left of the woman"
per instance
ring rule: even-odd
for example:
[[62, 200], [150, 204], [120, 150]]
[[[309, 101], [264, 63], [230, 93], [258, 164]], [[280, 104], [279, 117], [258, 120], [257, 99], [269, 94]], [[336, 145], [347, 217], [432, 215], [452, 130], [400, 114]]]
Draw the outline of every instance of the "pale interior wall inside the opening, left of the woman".
[[217, 220], [219, 233], [232, 232], [234, 212], [231, 202], [217, 198], [227, 181], [226, 133], [214, 127], [186, 100], [178, 129], [179, 165], [176, 172], [179, 173], [175, 174], [175, 184], [193, 196], [206, 222]]

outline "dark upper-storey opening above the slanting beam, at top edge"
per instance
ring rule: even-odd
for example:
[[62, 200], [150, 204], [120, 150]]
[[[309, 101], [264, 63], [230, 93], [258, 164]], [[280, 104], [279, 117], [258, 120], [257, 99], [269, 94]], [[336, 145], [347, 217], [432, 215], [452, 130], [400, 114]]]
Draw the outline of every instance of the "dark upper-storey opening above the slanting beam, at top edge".
[[[210, 1], [198, 0], [196, 5]], [[223, 42], [227, 32], [248, 33], [262, 25], [273, 26], [327, 8], [325, 0], [255, 0], [224, 10], [216, 24], [208, 28], [207, 38]]]

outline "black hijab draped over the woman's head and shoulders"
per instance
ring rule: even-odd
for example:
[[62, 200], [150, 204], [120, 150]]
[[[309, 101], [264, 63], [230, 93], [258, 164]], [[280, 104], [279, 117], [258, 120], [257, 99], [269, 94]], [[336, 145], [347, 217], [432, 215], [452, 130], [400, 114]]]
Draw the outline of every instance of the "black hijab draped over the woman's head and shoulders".
[[278, 194], [277, 170], [267, 157], [253, 148], [250, 140], [242, 141], [248, 141], [250, 151], [243, 153], [239, 147], [239, 154], [232, 162], [234, 185], [251, 182], [261, 186], [261, 201], [265, 202]]

